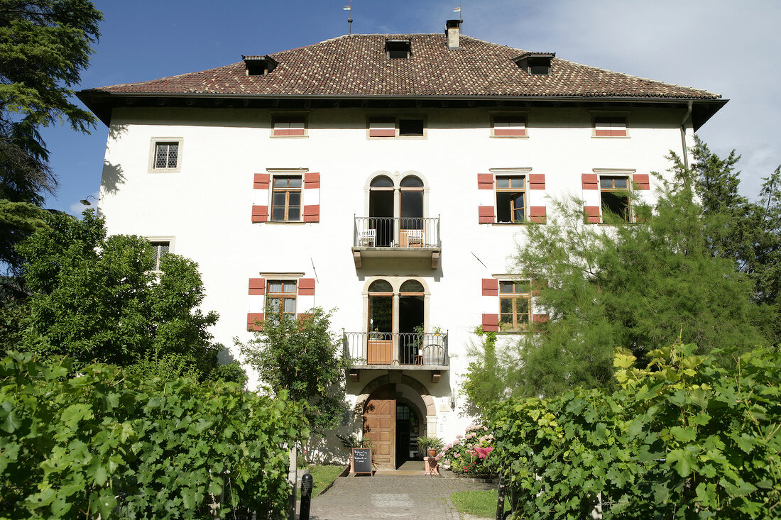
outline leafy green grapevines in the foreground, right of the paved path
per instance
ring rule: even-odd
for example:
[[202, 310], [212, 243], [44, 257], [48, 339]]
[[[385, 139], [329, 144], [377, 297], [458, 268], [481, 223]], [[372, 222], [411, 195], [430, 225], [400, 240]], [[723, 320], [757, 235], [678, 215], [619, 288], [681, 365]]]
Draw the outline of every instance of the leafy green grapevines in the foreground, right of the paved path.
[[[516, 518], [778, 518], [781, 356], [732, 369], [694, 345], [628, 351], [619, 390], [527, 398], [494, 411], [495, 462], [521, 497]], [[722, 353], [723, 354], [723, 353]]]

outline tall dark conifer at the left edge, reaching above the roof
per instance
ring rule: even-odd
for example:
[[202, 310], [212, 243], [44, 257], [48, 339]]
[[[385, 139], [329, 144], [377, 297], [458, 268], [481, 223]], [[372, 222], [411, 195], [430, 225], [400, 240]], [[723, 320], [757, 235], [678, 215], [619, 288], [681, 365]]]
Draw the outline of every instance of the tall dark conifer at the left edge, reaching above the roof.
[[[87, 0], [0, 0], [0, 199], [40, 207], [57, 181], [39, 130], [66, 121], [86, 132], [90, 112], [71, 102], [71, 87], [89, 64], [102, 13]], [[0, 262], [16, 272], [12, 245], [40, 215], [5, 205]]]

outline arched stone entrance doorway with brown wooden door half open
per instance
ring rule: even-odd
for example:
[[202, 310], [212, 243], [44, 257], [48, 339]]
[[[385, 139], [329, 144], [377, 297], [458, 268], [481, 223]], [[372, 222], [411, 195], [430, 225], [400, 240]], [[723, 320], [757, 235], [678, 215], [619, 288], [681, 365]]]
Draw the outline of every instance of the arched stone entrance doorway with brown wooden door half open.
[[426, 434], [427, 408], [423, 397], [404, 384], [383, 384], [369, 394], [363, 407], [363, 437], [372, 441], [378, 468], [394, 469], [420, 458], [417, 440]]

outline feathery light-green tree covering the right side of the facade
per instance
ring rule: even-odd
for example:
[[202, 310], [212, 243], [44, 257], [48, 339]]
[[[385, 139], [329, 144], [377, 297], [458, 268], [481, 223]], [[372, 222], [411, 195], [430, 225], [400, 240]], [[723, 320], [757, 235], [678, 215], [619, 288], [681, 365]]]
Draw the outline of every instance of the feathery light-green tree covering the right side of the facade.
[[[501, 365], [512, 367], [505, 372], [512, 393], [611, 386], [617, 347], [642, 363], [648, 351], [676, 340], [697, 344], [701, 353], [768, 343], [754, 280], [736, 269], [715, 235], [719, 225], [735, 223], [709, 215], [697, 198], [697, 173], [672, 160], [672, 180], [658, 176], [663, 188], [654, 208], [632, 202], [637, 223], [584, 223], [583, 202], [570, 198], [554, 201], [547, 225], [527, 227], [515, 270], [537, 280], [538, 303], [551, 319], [497, 353]], [[722, 200], [740, 201], [732, 183], [719, 186]], [[722, 354], [722, 362], [731, 359]]]

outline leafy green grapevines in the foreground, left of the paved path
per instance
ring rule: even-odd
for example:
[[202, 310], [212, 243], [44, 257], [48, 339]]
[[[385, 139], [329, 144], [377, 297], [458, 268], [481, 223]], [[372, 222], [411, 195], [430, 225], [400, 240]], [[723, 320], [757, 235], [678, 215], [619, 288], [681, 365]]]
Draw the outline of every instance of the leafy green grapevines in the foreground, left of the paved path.
[[[301, 404], [111, 365], [0, 361], [0, 517], [220, 518], [284, 511]], [[224, 491], [224, 504], [219, 504]], [[119, 500], [117, 499], [119, 497]], [[216, 505], [215, 505], [216, 504]]]

